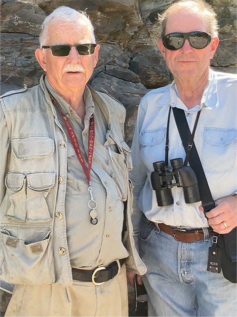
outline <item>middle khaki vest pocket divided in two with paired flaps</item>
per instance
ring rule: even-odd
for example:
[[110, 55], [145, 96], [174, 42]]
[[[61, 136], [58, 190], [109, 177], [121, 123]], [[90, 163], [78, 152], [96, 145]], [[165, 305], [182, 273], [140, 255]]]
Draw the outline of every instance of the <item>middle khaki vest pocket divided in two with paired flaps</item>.
[[54, 184], [53, 172], [7, 173], [5, 185], [10, 206], [5, 217], [28, 222], [50, 221], [46, 197]]

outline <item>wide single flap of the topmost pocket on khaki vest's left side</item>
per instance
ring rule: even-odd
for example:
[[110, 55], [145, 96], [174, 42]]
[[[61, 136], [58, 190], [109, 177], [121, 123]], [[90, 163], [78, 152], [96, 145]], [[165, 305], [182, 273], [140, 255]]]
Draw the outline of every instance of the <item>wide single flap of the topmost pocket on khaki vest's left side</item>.
[[17, 159], [47, 158], [54, 153], [54, 141], [46, 136], [12, 139], [12, 151]]

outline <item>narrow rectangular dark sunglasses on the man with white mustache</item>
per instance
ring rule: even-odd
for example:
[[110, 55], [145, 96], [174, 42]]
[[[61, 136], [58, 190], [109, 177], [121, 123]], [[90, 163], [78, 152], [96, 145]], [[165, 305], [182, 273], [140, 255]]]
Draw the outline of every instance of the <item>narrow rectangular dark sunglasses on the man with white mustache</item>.
[[53, 56], [65, 57], [69, 55], [72, 47], [76, 48], [80, 56], [87, 56], [94, 54], [96, 44], [51, 45], [42, 46], [42, 49], [50, 49]]

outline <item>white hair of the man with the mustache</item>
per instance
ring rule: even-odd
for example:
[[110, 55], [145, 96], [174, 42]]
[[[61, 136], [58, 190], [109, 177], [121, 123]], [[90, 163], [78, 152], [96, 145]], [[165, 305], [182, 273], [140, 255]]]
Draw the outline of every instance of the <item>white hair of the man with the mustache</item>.
[[80, 20], [83, 21], [83, 24], [87, 25], [88, 31], [91, 35], [92, 43], [95, 43], [94, 28], [87, 14], [84, 11], [77, 11], [68, 6], [59, 6], [52, 13], [46, 16], [46, 18], [44, 19], [41, 25], [41, 32], [39, 37], [40, 47], [42, 47], [42, 45], [47, 44], [45, 43], [45, 41], [47, 40], [48, 26], [50, 22], [52, 22], [53, 20], [65, 21], [65, 24], [70, 24], [75, 22], [79, 24]]

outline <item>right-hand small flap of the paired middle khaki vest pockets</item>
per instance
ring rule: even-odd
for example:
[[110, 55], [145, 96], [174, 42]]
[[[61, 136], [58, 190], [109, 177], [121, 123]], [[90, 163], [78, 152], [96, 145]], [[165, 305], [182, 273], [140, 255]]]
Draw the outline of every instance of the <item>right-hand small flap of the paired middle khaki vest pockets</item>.
[[52, 188], [55, 184], [55, 173], [38, 172], [26, 175], [27, 185], [33, 190], [45, 190]]

